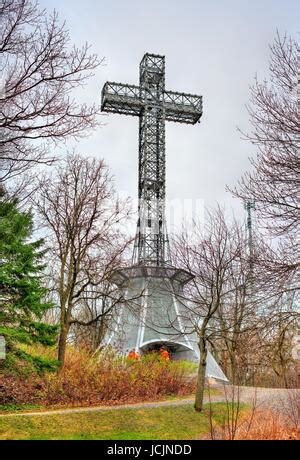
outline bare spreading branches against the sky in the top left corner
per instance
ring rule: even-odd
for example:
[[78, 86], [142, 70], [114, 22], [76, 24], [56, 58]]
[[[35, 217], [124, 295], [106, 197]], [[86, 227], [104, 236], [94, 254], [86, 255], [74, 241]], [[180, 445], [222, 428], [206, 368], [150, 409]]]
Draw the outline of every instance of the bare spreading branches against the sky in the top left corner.
[[65, 23], [34, 0], [0, 5], [0, 180], [33, 165], [51, 164], [50, 147], [87, 134], [97, 105], [78, 104], [82, 87], [100, 62], [89, 46], [71, 45]]

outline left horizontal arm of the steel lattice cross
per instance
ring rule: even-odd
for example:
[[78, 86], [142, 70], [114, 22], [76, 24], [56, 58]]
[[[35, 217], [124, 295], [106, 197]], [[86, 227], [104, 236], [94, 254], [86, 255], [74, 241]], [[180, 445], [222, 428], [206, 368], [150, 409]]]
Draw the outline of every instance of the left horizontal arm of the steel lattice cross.
[[140, 87], [115, 82], [106, 82], [102, 89], [101, 110], [122, 115], [139, 116], [143, 103]]

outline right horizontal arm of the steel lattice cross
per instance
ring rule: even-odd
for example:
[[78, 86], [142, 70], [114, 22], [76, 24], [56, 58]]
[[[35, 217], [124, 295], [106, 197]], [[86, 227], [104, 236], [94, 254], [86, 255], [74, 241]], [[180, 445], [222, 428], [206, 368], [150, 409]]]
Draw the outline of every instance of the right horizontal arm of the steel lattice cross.
[[202, 115], [202, 96], [165, 91], [164, 107], [167, 121], [195, 124]]

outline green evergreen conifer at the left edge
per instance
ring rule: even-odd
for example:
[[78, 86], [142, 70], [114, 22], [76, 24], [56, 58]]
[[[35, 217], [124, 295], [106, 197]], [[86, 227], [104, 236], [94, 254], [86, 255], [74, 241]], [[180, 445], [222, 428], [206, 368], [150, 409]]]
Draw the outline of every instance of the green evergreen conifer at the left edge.
[[57, 328], [43, 322], [51, 304], [43, 299], [43, 240], [30, 242], [33, 218], [18, 209], [17, 200], [0, 196], [0, 335], [7, 343], [9, 361], [15, 358], [38, 368], [53, 363], [32, 356], [18, 344], [53, 345]]

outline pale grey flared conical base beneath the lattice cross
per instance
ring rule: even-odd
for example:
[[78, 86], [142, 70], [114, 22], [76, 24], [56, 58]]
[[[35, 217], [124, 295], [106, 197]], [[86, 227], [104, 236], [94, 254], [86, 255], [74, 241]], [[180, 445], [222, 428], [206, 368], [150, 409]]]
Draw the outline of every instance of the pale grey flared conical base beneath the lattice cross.
[[[130, 267], [118, 270], [115, 283], [126, 301], [120, 305], [115, 329], [106, 338], [123, 355], [167, 348], [174, 360], [198, 362], [197, 336], [184, 321], [183, 286], [193, 276], [174, 267]], [[185, 323], [185, 324], [184, 324]], [[189, 332], [189, 333], [187, 333]], [[228, 381], [208, 352], [206, 376]]]

